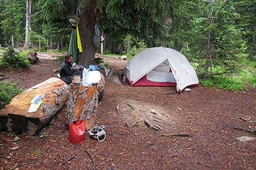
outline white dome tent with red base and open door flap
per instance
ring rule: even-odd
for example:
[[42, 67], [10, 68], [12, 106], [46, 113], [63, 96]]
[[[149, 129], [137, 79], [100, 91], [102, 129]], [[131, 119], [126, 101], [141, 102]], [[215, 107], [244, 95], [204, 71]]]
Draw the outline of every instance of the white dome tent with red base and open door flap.
[[123, 69], [131, 86], [176, 86], [182, 91], [197, 86], [195, 69], [180, 52], [164, 47], [144, 49], [137, 53]]

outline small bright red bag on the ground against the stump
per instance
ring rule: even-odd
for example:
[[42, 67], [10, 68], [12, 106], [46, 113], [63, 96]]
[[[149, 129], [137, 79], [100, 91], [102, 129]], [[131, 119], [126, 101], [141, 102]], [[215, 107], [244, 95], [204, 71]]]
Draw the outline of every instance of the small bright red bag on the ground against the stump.
[[71, 143], [80, 143], [84, 141], [85, 125], [84, 120], [73, 121], [69, 124], [68, 140]]

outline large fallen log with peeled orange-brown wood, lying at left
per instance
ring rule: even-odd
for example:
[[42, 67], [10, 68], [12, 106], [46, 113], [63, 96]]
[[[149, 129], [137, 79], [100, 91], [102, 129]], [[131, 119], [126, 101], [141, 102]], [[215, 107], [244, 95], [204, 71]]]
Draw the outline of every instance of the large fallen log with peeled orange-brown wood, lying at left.
[[[36, 112], [28, 113], [31, 100], [43, 95], [43, 103]], [[68, 100], [68, 85], [60, 78], [50, 78], [15, 96], [0, 111], [0, 124], [8, 131], [34, 135], [46, 125]]]

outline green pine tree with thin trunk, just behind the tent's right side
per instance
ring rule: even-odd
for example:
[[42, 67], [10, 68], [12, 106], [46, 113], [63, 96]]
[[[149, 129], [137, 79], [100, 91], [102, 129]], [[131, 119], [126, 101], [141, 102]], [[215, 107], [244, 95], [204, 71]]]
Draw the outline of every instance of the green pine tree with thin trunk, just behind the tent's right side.
[[237, 71], [246, 56], [242, 30], [234, 20], [240, 17], [230, 1], [204, 1], [195, 20], [189, 53], [199, 63], [203, 78]]

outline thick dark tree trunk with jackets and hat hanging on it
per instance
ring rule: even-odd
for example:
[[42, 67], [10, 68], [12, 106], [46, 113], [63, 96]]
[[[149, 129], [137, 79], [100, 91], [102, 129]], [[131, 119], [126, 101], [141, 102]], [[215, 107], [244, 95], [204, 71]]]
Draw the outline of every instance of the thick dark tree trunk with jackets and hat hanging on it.
[[96, 48], [92, 44], [94, 35], [94, 24], [99, 18], [100, 12], [96, 10], [97, 0], [90, 0], [89, 5], [82, 6], [82, 0], [79, 0], [77, 6], [77, 19], [79, 19], [79, 33], [82, 45], [82, 53], [79, 54], [79, 64], [88, 67], [95, 63], [94, 54]]

